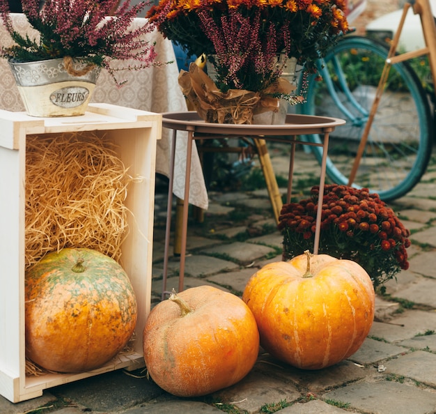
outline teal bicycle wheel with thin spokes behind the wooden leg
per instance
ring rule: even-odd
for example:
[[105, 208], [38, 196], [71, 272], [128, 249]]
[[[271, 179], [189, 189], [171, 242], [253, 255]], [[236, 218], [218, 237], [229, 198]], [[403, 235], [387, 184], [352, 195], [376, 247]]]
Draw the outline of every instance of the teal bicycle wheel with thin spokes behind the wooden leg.
[[[343, 118], [345, 125], [330, 135], [327, 175], [348, 184], [389, 50], [382, 43], [350, 36], [320, 61], [322, 82], [308, 80], [302, 114]], [[384, 201], [403, 196], [426, 171], [432, 147], [431, 116], [426, 93], [407, 62], [391, 67], [386, 89], [373, 120], [359, 169], [352, 184], [368, 187]], [[303, 139], [320, 142], [318, 135]], [[312, 147], [318, 161], [322, 147]]]

